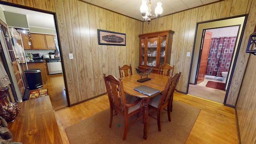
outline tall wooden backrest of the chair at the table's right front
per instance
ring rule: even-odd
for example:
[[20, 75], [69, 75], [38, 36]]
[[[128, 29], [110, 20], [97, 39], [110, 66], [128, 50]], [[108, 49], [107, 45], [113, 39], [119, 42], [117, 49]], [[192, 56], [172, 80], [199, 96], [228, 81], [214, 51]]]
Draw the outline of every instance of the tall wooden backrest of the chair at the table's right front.
[[168, 79], [164, 92], [162, 93], [161, 99], [158, 103], [158, 108], [166, 107], [171, 102], [174, 90], [179, 82], [181, 72], [174, 74], [173, 77]]

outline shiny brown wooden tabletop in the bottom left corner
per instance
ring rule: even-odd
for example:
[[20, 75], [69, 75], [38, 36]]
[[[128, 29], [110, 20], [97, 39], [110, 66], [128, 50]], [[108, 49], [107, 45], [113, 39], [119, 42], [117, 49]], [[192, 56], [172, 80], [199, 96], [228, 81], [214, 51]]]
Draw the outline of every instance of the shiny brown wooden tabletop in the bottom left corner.
[[49, 96], [18, 103], [16, 120], [8, 123], [13, 142], [23, 144], [62, 144]]

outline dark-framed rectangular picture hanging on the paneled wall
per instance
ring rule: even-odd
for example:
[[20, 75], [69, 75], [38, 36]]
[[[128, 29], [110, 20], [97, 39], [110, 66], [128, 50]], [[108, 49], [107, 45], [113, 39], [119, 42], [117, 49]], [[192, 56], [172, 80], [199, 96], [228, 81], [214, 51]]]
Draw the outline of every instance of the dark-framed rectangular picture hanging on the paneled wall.
[[126, 34], [98, 29], [98, 44], [112, 46], [126, 46]]

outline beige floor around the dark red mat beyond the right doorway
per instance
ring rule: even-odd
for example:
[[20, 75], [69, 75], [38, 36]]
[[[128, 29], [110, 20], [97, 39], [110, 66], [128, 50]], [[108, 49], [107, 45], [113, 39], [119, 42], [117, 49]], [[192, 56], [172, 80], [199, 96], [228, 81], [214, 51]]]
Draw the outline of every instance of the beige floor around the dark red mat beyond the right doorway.
[[[205, 85], [207, 84], [208, 81], [209, 81], [209, 79], [205, 78], [203, 82], [200, 82], [197, 85], [189, 84], [188, 94], [192, 95], [192, 96], [199, 97], [199, 98], [203, 98], [205, 100], [210, 100], [213, 102], [218, 102], [218, 103], [223, 104], [225, 95], [226, 95], [226, 91], [206, 87]], [[224, 82], [218, 81], [218, 80], [210, 80], [210, 81], [224, 83]]]

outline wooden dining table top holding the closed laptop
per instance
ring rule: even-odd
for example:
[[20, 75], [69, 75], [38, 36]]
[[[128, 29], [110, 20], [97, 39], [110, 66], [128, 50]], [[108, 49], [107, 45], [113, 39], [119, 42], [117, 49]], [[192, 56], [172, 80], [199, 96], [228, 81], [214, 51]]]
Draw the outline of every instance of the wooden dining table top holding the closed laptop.
[[163, 92], [169, 76], [151, 73], [148, 75], [148, 78], [151, 78], [151, 80], [148, 80], [146, 82], [137, 82], [137, 80], [140, 80], [139, 74], [134, 74], [134, 75], [126, 76], [122, 78], [124, 92], [137, 97], [144, 97], [144, 98], [148, 97], [145, 94], [142, 94], [134, 90], [135, 87], [141, 86], [141, 85], [150, 86], [152, 88], [160, 90], [160, 92]]

